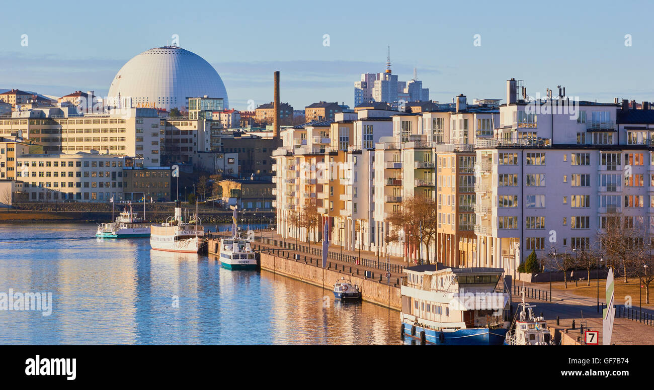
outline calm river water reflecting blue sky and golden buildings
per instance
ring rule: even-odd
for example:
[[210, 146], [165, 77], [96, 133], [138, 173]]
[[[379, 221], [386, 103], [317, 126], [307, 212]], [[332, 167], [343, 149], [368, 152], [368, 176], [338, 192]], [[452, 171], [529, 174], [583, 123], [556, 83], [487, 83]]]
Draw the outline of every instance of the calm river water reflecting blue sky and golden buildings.
[[0, 310], [0, 344], [405, 344], [398, 312], [343, 306], [331, 291], [226, 270], [214, 256], [154, 251], [146, 238], [97, 241], [95, 229], [0, 224], [0, 293], [53, 301], [50, 316]]

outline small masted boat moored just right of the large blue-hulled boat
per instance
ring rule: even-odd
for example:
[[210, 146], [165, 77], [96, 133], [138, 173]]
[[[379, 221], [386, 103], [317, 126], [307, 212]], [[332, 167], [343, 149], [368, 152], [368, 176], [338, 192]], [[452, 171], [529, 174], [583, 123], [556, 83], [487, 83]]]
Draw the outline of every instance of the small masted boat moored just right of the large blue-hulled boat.
[[507, 346], [549, 346], [554, 340], [547, 329], [547, 322], [540, 316], [534, 315], [536, 306], [525, 302], [525, 291], [523, 301], [518, 304], [518, 318], [515, 321], [515, 329], [506, 334], [504, 345]]

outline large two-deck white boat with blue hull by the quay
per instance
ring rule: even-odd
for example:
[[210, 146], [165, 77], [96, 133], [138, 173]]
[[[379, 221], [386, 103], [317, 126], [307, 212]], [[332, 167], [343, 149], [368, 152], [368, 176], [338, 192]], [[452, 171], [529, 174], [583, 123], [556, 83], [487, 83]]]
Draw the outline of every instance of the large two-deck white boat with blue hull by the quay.
[[502, 345], [510, 325], [502, 268], [404, 268], [402, 334], [421, 344]]

